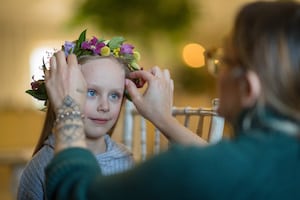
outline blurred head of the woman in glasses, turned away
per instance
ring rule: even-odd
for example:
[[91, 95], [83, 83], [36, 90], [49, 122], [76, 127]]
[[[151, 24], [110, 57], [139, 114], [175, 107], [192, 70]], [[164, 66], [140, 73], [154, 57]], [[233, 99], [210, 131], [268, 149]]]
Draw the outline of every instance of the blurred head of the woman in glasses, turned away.
[[219, 79], [221, 114], [235, 119], [243, 108], [257, 102], [300, 120], [299, 55], [298, 3], [244, 6], [224, 44], [226, 69]]

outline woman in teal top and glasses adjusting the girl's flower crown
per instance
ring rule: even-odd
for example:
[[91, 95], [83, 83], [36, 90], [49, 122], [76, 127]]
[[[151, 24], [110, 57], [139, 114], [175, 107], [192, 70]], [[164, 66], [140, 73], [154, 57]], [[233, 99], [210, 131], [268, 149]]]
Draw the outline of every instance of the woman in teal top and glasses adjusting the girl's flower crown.
[[[128, 172], [102, 177], [81, 139], [82, 120], [72, 116], [72, 123], [57, 123], [57, 154], [46, 171], [48, 198], [299, 199], [299, 55], [299, 3], [245, 5], [224, 44], [218, 76], [219, 111], [233, 123], [235, 138], [207, 147], [173, 147]], [[54, 60], [46, 84], [51, 98], [57, 100], [55, 106], [62, 112], [74, 106], [72, 110], [80, 111], [84, 97], [56, 74], [62, 70], [84, 81], [75, 73], [76, 58], [62, 62], [57, 55]], [[167, 112], [169, 74], [154, 68], [133, 72], [131, 78], [148, 83], [140, 94], [126, 81], [138, 110], [165, 134], [185, 134]], [[58, 93], [58, 85], [65, 92]], [[65, 134], [74, 137], [64, 139]], [[80, 173], [74, 173], [78, 169]]]

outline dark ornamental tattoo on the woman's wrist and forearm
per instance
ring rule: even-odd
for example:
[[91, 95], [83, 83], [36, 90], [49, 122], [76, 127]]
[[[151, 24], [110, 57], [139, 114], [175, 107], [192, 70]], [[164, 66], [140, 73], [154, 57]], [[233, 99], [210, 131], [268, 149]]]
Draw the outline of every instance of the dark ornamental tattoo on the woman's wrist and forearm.
[[64, 98], [62, 106], [57, 110], [54, 131], [64, 146], [72, 146], [74, 142], [85, 138], [83, 115], [70, 96]]

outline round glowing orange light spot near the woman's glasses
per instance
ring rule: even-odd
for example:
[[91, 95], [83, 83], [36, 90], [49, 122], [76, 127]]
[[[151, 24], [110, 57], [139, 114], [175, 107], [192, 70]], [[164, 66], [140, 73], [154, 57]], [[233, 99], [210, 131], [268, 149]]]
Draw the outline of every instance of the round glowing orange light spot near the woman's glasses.
[[204, 51], [205, 49], [196, 43], [187, 44], [183, 48], [182, 57], [184, 62], [190, 67], [203, 67], [204, 66]]

